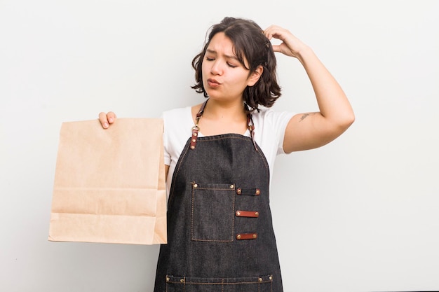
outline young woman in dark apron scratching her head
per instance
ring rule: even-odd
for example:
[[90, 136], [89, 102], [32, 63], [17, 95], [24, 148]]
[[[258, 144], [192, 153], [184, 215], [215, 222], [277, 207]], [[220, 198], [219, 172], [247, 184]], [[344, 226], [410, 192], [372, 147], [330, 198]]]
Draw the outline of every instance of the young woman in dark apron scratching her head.
[[[275, 52], [302, 63], [320, 111], [270, 109], [281, 96]], [[274, 160], [339, 137], [353, 123], [351, 105], [313, 50], [276, 25], [224, 18], [192, 66], [206, 101], [163, 113], [168, 244], [154, 291], [283, 291], [269, 207]], [[116, 115], [99, 118], [107, 128]]]

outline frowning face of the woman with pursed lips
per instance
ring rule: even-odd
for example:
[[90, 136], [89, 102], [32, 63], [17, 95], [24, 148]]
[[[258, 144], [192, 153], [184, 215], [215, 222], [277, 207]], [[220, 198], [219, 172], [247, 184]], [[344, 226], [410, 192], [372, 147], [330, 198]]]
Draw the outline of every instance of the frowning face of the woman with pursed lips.
[[244, 89], [255, 85], [260, 76], [257, 73], [249, 76], [248, 69], [236, 58], [233, 43], [223, 32], [210, 40], [202, 70], [203, 85], [209, 97], [224, 101], [242, 100]]

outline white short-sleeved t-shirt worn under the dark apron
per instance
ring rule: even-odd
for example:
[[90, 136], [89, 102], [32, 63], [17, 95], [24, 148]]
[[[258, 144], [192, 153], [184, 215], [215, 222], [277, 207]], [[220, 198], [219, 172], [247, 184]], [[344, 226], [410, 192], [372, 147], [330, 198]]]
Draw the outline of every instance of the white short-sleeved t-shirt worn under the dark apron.
[[[255, 124], [255, 141], [262, 149], [266, 161], [269, 163], [270, 181], [271, 174], [278, 154], [283, 154], [283, 137], [288, 121], [293, 113], [286, 111], [276, 112], [273, 109], [260, 109], [252, 112], [252, 120]], [[192, 135], [194, 120], [192, 119], [191, 106], [180, 109], [172, 109], [163, 112], [163, 146], [165, 148], [165, 165], [169, 165], [168, 177], [166, 179], [166, 190], [169, 194], [170, 183], [173, 179], [175, 165], [180, 158], [184, 145]], [[245, 132], [250, 137], [250, 131]], [[203, 137], [202, 129], [198, 137]]]

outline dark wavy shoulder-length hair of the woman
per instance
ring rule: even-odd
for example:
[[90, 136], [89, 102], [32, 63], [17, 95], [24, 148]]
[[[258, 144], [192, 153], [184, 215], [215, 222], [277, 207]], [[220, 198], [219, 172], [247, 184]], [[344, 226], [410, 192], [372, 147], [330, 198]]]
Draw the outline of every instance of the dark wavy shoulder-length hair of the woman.
[[278, 85], [276, 78], [276, 57], [271, 42], [263, 34], [261, 27], [252, 20], [227, 17], [217, 25], [210, 27], [210, 33], [203, 50], [192, 60], [196, 84], [191, 88], [198, 93], [203, 93], [204, 97], [208, 97], [203, 85], [202, 64], [210, 41], [219, 32], [224, 32], [234, 43], [236, 57], [245, 68], [247, 67], [244, 60], [247, 60], [250, 67], [247, 68], [250, 71], [249, 76], [258, 66], [264, 67], [259, 81], [255, 85], [245, 88], [243, 93], [244, 102], [250, 106], [250, 111], [259, 110], [259, 105], [273, 106], [276, 99], [281, 97], [281, 87]]

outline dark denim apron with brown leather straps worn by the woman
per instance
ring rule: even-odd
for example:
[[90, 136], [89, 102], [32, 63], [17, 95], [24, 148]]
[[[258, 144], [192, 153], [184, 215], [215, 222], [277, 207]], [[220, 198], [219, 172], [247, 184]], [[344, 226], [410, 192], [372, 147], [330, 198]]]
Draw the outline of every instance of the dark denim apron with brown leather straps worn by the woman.
[[192, 130], [168, 199], [154, 292], [281, 292], [269, 166], [253, 138]]

